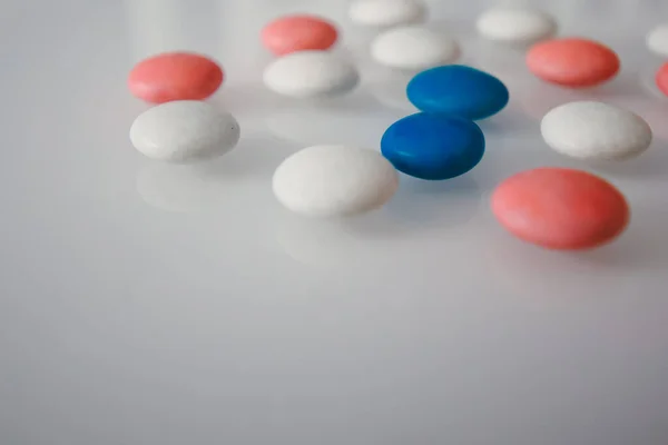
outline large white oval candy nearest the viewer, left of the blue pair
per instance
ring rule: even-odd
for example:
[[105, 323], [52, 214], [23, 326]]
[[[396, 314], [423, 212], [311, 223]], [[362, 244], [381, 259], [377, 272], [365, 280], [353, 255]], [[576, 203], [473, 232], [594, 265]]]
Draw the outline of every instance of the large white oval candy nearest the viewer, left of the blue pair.
[[334, 217], [383, 206], [399, 176], [380, 152], [350, 146], [314, 146], [285, 159], [274, 172], [274, 194], [297, 214]]

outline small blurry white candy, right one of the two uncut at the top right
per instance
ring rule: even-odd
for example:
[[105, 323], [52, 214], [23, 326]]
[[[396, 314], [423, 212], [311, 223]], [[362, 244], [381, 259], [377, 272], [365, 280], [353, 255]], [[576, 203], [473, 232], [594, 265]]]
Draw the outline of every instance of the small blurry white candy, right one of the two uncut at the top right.
[[484, 38], [508, 43], [533, 43], [557, 33], [557, 22], [551, 16], [527, 8], [489, 9], [475, 26]]

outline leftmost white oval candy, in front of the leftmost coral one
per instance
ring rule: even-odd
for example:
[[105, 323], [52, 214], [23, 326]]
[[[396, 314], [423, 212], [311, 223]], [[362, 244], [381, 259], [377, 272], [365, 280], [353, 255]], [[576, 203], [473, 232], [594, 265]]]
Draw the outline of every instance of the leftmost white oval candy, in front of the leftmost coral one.
[[139, 115], [130, 128], [130, 140], [151, 159], [171, 162], [209, 159], [237, 145], [239, 125], [230, 113], [209, 103], [179, 100]]

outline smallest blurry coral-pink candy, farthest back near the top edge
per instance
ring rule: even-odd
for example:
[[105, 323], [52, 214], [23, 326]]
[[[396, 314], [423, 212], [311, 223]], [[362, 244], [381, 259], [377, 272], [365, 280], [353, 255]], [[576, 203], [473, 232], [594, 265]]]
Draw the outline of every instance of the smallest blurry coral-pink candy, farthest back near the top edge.
[[276, 19], [262, 30], [262, 41], [276, 56], [305, 50], [325, 50], [336, 42], [336, 28], [313, 16]]

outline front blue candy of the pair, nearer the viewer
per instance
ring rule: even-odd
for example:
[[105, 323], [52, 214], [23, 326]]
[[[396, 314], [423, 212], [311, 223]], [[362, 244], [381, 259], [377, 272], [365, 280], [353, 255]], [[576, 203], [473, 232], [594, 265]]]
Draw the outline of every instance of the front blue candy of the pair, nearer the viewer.
[[419, 112], [392, 123], [381, 151], [399, 171], [421, 179], [454, 178], [471, 170], [484, 154], [484, 135], [475, 122], [454, 116]]

